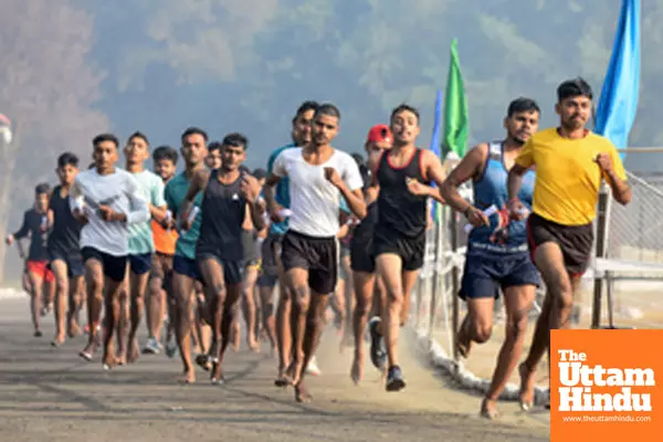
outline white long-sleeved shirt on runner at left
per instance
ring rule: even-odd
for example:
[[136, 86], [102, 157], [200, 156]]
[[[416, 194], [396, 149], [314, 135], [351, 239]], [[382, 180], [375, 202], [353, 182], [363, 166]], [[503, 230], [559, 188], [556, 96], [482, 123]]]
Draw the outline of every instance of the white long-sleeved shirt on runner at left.
[[[113, 256], [126, 256], [129, 248], [129, 224], [149, 220], [147, 201], [136, 178], [123, 169], [99, 175], [96, 169], [76, 176], [70, 190], [72, 212], [84, 207], [88, 223], [81, 230], [81, 249], [94, 248]], [[127, 222], [104, 221], [96, 210], [108, 206], [127, 215]]]

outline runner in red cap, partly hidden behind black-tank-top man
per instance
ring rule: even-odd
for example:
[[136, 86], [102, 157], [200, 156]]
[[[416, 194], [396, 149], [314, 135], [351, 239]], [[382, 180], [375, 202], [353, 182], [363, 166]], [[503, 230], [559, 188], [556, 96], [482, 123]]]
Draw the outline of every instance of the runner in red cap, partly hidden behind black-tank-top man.
[[[367, 215], [355, 228], [350, 242], [350, 266], [355, 283], [355, 296], [357, 297], [352, 315], [355, 357], [350, 371], [350, 378], [355, 383], [359, 383], [364, 379], [364, 330], [366, 329], [368, 316], [375, 305], [375, 318], [371, 320], [370, 327], [377, 327], [379, 325], [380, 308], [385, 303], [385, 288], [379, 280], [376, 281], [376, 263], [371, 256], [373, 229], [378, 221], [378, 191], [376, 187], [370, 186], [372, 179], [370, 170], [375, 170], [382, 152], [391, 148], [392, 140], [393, 137], [389, 126], [376, 125], [371, 127], [365, 144], [368, 156], [367, 167], [360, 168], [366, 192]], [[377, 333], [373, 332], [372, 335], [377, 336]], [[371, 361], [376, 368], [381, 370], [380, 360], [383, 359], [385, 349], [379, 344], [376, 343], [371, 347], [376, 351], [380, 350], [380, 354], [371, 354]]]

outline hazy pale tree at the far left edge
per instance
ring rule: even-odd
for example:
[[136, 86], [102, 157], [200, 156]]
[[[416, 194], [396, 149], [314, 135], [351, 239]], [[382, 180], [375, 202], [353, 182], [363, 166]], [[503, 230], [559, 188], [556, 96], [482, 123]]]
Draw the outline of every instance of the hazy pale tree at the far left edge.
[[[85, 167], [92, 137], [108, 127], [106, 116], [93, 107], [102, 75], [86, 61], [92, 24], [69, 0], [2, 2], [0, 112], [17, 124], [17, 134], [0, 146], [0, 232], [18, 222], [36, 181], [55, 181], [62, 151], [77, 154]], [[4, 255], [1, 242], [1, 262]]]

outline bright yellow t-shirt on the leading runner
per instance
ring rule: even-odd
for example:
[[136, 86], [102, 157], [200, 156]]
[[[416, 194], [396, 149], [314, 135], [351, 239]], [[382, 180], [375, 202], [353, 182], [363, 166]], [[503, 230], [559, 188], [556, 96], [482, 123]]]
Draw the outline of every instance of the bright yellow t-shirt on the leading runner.
[[594, 162], [598, 154], [610, 155], [615, 175], [627, 179], [617, 148], [600, 135], [569, 139], [549, 128], [529, 137], [516, 164], [536, 167], [534, 212], [564, 225], [593, 222], [601, 178], [608, 179]]

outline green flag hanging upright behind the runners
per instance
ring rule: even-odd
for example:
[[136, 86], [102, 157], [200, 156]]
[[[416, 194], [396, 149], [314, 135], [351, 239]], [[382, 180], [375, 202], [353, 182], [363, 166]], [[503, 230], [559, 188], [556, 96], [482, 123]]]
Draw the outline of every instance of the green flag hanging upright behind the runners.
[[442, 158], [450, 151], [463, 158], [467, 150], [470, 136], [467, 99], [465, 85], [461, 73], [461, 62], [456, 49], [457, 41], [451, 41], [451, 61], [446, 76], [446, 91], [444, 94], [444, 139], [442, 140]]

